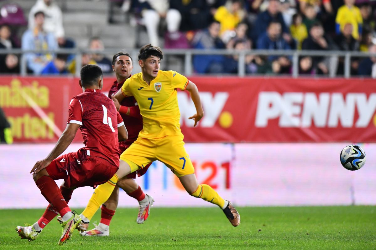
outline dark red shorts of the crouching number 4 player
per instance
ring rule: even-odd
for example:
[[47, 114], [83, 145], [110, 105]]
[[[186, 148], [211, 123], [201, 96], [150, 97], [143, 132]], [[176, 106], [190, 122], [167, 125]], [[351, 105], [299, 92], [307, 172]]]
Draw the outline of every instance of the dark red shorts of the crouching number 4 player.
[[68, 188], [95, 187], [116, 173], [118, 167], [97, 156], [87, 156], [86, 150], [64, 154], [46, 168], [53, 180], [64, 180]]

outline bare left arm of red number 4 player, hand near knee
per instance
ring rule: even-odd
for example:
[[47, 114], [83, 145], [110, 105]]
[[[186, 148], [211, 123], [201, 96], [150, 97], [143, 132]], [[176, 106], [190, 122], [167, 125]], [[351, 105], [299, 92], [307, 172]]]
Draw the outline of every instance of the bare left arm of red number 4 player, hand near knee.
[[53, 150], [49, 153], [49, 155], [45, 159], [40, 160], [35, 163], [35, 165], [30, 171], [30, 174], [32, 172], [34, 172], [35, 174], [38, 173], [39, 171], [41, 171], [42, 169], [50, 165], [52, 160], [54, 160], [56, 157], [61, 155], [73, 141], [74, 136], [76, 136], [76, 132], [79, 127], [80, 127], [79, 124], [68, 123], [67, 127], [65, 127], [64, 132], [60, 136]]

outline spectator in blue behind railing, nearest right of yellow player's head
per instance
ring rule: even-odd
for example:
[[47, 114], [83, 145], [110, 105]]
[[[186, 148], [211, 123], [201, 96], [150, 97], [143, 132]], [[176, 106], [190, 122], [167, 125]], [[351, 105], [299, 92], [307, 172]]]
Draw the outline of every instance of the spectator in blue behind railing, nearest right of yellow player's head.
[[[219, 38], [220, 23], [212, 22], [207, 30], [199, 31], [193, 39], [196, 49], [224, 49]], [[197, 73], [224, 73], [224, 55], [195, 55], [193, 67]]]

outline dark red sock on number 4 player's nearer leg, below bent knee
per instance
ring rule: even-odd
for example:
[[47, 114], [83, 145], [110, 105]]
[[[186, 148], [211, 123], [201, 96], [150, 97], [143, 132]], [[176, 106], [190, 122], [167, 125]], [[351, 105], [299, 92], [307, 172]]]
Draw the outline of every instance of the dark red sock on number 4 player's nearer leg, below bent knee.
[[70, 212], [67, 202], [65, 202], [58, 185], [49, 176], [42, 176], [35, 182], [36, 186], [41, 190], [44, 198], [56, 208], [61, 216]]

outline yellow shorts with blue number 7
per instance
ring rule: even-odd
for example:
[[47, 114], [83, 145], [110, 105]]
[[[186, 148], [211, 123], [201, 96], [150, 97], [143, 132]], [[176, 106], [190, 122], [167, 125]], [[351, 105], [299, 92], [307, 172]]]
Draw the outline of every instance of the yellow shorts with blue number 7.
[[183, 135], [165, 136], [158, 139], [137, 138], [124, 151], [120, 160], [127, 162], [132, 172], [145, 168], [159, 160], [178, 177], [194, 174], [194, 168], [184, 148]]

